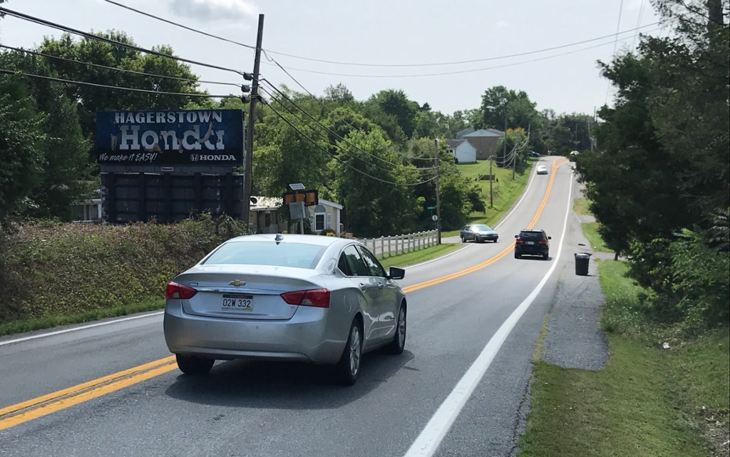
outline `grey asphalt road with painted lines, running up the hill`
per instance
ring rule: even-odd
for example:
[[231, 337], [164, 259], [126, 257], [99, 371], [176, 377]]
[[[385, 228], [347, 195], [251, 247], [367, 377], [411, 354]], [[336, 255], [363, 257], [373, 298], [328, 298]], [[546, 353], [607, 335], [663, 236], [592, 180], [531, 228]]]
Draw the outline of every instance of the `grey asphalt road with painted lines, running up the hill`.
[[[159, 313], [2, 338], [0, 456], [512, 455], [537, 337], [580, 242], [571, 230], [563, 237], [575, 224], [571, 173], [556, 169], [547, 198], [550, 175], [533, 175], [498, 243], [409, 267], [406, 350], [364, 356], [351, 388], [314, 366], [218, 362], [208, 377], [162, 369], [69, 407], [46, 399], [55, 406], [31, 406], [7, 426], [12, 405], [170, 354]], [[550, 259], [515, 259], [514, 235], [537, 212], [534, 227], [553, 237]]]

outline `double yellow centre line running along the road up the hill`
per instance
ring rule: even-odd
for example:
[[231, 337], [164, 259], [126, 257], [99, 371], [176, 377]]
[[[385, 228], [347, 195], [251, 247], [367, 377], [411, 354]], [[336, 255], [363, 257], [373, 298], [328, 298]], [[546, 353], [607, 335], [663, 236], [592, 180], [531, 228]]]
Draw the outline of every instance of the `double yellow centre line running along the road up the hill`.
[[[567, 161], [553, 162], [553, 171], [550, 173], [550, 182], [548, 183], [548, 189], [545, 191], [545, 196], [542, 198], [542, 203], [537, 209], [534, 218], [532, 218], [527, 229], [532, 229], [537, 223], [537, 220], [542, 213], [545, 204], [550, 196], [550, 190], [553, 188], [553, 182], [555, 180], [556, 170], [567, 163]], [[515, 242], [511, 242], [510, 245], [505, 247], [500, 253], [481, 264], [471, 266], [467, 269], [461, 270], [453, 274], [447, 274], [446, 276], [437, 277], [436, 279], [410, 285], [404, 288], [404, 292], [418, 291], [419, 289], [429, 287], [431, 285], [437, 285], [444, 283], [448, 280], [453, 280], [456, 277], [464, 276], [475, 272], [479, 269], [483, 269], [485, 266], [491, 265], [500, 258], [507, 256], [508, 253], [512, 252]], [[33, 420], [44, 415], [48, 415], [58, 410], [63, 410], [67, 407], [74, 406], [86, 402], [91, 399], [95, 399], [99, 396], [106, 395], [114, 391], [126, 388], [130, 385], [141, 383], [142, 381], [150, 378], [164, 375], [164, 373], [172, 372], [177, 368], [175, 364], [175, 357], [169, 356], [161, 358], [156, 361], [152, 361], [148, 364], [135, 366], [134, 368], [126, 369], [122, 372], [117, 372], [112, 375], [99, 377], [96, 380], [89, 381], [88, 383], [82, 383], [74, 385], [69, 388], [65, 388], [61, 391], [55, 391], [48, 393], [47, 395], [39, 396], [35, 399], [28, 400], [27, 402], [21, 402], [13, 404], [9, 407], [0, 409], [0, 430], [9, 429], [12, 426], [17, 426], [20, 423]]]

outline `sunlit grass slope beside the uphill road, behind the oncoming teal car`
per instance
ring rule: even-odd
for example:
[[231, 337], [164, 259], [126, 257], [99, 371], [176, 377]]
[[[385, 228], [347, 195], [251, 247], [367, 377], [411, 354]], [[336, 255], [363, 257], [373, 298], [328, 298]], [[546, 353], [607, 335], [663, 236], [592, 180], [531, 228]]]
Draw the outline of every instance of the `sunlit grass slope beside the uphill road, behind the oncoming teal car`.
[[[512, 207], [512, 204], [515, 203], [524, 190], [525, 185], [529, 180], [534, 161], [535, 159], [533, 158], [529, 159], [528, 168], [521, 173], [516, 173], [514, 180], [512, 180], [511, 169], [502, 169], [496, 165], [492, 166], [492, 173], [496, 179], [499, 180], [499, 183], [495, 181], [492, 185], [493, 207], [489, 207], [489, 181], [475, 181], [481, 189], [481, 196], [483, 201], [485, 201], [487, 210], [485, 213], [472, 212], [472, 214], [469, 215], [469, 218], [464, 220], [464, 224], [485, 223], [488, 226], [491, 226], [497, 223], [497, 221], [502, 218], [502, 215], [504, 215], [504, 213]], [[458, 168], [465, 177], [475, 179], [480, 174], [489, 174], [489, 161], [480, 161], [476, 164], [458, 165]], [[458, 230], [452, 230], [443, 232], [442, 236], [456, 237], [458, 234]]]

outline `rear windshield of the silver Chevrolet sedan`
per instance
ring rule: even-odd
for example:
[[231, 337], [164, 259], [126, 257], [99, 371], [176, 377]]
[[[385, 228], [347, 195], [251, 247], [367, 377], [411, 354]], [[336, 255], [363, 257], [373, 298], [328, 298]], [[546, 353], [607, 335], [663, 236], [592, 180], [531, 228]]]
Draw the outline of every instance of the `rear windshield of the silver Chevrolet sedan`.
[[314, 269], [326, 249], [326, 246], [293, 242], [228, 242], [212, 253], [203, 263]]

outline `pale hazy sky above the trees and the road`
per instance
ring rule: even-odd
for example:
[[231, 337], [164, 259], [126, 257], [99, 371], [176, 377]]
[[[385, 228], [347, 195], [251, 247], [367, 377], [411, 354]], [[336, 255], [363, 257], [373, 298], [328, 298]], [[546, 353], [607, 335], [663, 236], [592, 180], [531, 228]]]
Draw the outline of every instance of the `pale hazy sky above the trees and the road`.
[[[612, 100], [596, 64], [610, 61], [614, 53], [615, 37], [607, 36], [617, 29], [624, 32], [616, 47], [621, 52], [638, 43], [632, 30], [637, 26], [647, 26], [643, 33], [664, 34], [658, 25], [650, 26], [658, 16], [647, 0], [115, 1], [252, 46], [263, 14], [266, 56], [287, 67], [308, 91], [322, 94], [328, 85], [342, 83], [363, 100], [383, 89], [400, 89], [419, 104], [427, 102], [448, 114], [478, 108], [481, 95], [494, 85], [526, 91], [538, 110], [592, 114]], [[170, 45], [183, 58], [253, 71], [251, 49], [104, 0], [9, 0], [2, 6], [83, 31], [125, 31], [140, 47]], [[43, 37], [60, 35], [18, 18], [0, 20], [0, 42], [8, 46], [34, 47]], [[599, 37], [607, 38], [572, 45]], [[551, 47], [561, 49], [543, 51]], [[524, 53], [529, 54], [502, 58]], [[266, 56], [261, 75], [301, 91]], [[477, 62], [458, 64], [463, 61]], [[201, 80], [245, 82], [232, 72], [192, 69]], [[210, 93], [230, 89], [201, 88]]]

